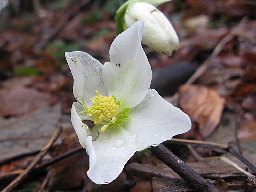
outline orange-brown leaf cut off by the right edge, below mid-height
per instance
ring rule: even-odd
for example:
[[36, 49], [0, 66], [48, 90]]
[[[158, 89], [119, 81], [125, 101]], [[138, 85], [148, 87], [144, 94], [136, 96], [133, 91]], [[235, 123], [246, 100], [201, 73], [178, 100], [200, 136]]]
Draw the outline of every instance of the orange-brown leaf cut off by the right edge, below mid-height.
[[240, 140], [255, 140], [256, 139], [256, 119], [245, 123], [237, 130], [237, 137]]

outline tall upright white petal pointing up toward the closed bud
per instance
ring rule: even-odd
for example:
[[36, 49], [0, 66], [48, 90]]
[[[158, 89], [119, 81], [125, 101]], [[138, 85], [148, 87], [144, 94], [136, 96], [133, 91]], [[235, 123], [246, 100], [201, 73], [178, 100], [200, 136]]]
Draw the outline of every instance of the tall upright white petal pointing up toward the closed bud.
[[146, 96], [152, 72], [141, 46], [143, 22], [135, 23], [111, 44], [110, 62], [103, 65], [102, 76], [109, 95], [114, 95], [121, 108], [134, 107]]

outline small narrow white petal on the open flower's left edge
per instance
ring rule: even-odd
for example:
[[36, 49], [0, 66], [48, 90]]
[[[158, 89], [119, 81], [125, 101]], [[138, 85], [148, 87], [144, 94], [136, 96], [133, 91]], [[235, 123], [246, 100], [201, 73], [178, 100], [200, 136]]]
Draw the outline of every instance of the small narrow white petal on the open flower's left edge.
[[83, 148], [86, 148], [87, 135], [90, 135], [91, 131], [90, 128], [81, 121], [78, 113], [76, 112], [75, 104], [76, 102], [73, 103], [71, 108], [71, 122], [78, 136], [79, 143]]

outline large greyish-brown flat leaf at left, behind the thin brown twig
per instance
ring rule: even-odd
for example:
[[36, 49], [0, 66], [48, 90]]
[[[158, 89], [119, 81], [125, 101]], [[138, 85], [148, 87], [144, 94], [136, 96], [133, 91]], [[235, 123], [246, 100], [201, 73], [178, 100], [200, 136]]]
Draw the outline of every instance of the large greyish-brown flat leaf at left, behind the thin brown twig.
[[0, 161], [43, 148], [59, 121], [60, 112], [61, 106], [56, 104], [22, 117], [0, 118]]

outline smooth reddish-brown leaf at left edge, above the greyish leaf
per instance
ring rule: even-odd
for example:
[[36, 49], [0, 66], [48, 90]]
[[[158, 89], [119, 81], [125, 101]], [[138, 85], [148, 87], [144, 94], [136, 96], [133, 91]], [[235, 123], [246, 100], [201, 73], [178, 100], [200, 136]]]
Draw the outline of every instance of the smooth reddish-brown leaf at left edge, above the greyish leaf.
[[0, 90], [0, 115], [2, 117], [21, 116], [47, 106], [54, 100], [55, 97], [49, 94], [22, 86], [2, 89]]

